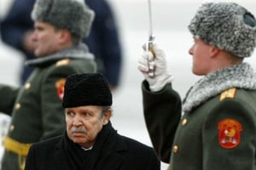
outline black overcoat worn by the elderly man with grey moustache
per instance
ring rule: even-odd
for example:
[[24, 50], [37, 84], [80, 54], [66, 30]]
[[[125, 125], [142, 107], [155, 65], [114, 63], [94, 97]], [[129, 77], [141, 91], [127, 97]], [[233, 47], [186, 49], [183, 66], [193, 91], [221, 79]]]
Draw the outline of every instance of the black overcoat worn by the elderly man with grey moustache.
[[[63, 147], [64, 136], [33, 144], [27, 156], [26, 170], [76, 170], [68, 163], [70, 156]], [[102, 147], [100, 156], [93, 155], [98, 159], [88, 163], [93, 165], [86, 170], [160, 170], [160, 161], [151, 147], [118, 133], [114, 133], [109, 141]]]

